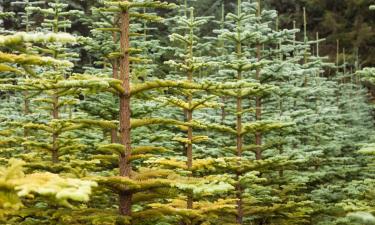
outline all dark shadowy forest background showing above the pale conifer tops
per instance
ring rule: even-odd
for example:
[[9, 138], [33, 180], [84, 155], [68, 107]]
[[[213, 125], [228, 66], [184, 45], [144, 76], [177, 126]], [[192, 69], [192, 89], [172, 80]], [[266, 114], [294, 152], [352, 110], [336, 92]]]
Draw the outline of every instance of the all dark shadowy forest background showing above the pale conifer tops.
[[[221, 5], [225, 4], [226, 11], [234, 11], [235, 0], [170, 0], [178, 4], [187, 1], [195, 7], [198, 15], [215, 16], [220, 18]], [[255, 1], [255, 0], [249, 0]], [[0, 0], [3, 11], [15, 11], [9, 0]], [[48, 2], [48, 1], [46, 1]], [[88, 35], [89, 28], [85, 26], [85, 20], [91, 15], [92, 6], [98, 4], [98, 0], [65, 0], [71, 8], [77, 8], [86, 12], [87, 18], [81, 18], [73, 24], [73, 32]], [[320, 37], [326, 38], [321, 46], [322, 55], [328, 55], [332, 61], [336, 60], [337, 44], [340, 41], [340, 59], [343, 49], [346, 51], [347, 63], [354, 67], [359, 57], [360, 67], [375, 66], [375, 13], [369, 10], [374, 0], [262, 0], [264, 7], [276, 9], [279, 12], [280, 27], [291, 28], [296, 21], [297, 28], [303, 29], [303, 7], [308, 15], [308, 33], [310, 39], [315, 39], [316, 32]], [[18, 10], [22, 11], [22, 7]], [[165, 11], [164, 11], [165, 12]], [[12, 20], [4, 21], [6, 28], [17, 25]], [[212, 31], [212, 24], [206, 25], [205, 32]], [[167, 29], [165, 29], [167, 31]], [[160, 29], [163, 32], [163, 28]], [[165, 34], [167, 35], [167, 33]], [[303, 35], [302, 32], [300, 35]], [[300, 39], [301, 40], [301, 39]]]

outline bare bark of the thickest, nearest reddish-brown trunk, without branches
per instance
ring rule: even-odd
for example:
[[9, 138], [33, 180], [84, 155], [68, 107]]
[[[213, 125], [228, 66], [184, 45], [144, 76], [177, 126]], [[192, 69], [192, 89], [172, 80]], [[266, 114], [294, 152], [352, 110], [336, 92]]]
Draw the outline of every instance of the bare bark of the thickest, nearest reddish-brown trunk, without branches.
[[[124, 94], [120, 94], [120, 143], [124, 145], [125, 152], [119, 156], [120, 176], [130, 177], [131, 175], [131, 139], [130, 139], [130, 56], [129, 56], [129, 11], [121, 14], [121, 53], [120, 61], [120, 79], [125, 90]], [[120, 214], [125, 216], [131, 215], [132, 193], [120, 192], [119, 194]]]

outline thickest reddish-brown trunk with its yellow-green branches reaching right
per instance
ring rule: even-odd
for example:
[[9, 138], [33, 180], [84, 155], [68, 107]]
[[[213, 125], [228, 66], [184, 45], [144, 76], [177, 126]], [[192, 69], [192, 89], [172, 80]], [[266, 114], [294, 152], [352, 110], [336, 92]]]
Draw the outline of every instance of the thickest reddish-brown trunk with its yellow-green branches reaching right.
[[[134, 15], [135, 18], [141, 18], [141, 19], [157, 19], [158, 17], [155, 17], [155, 16], [152, 16], [152, 15], [148, 15], [148, 14], [138, 14], [135, 10], [142, 6], [142, 7], [147, 7], [147, 8], [154, 8], [154, 7], [170, 7], [169, 5], [167, 4], [163, 4], [163, 3], [151, 3], [151, 2], [144, 2], [144, 3], [131, 3], [131, 2], [119, 2], [119, 3], [108, 3], [110, 6], [112, 7], [119, 7], [121, 8], [120, 12], [121, 12], [121, 18], [122, 22], [119, 23], [119, 25], [121, 25], [121, 29], [120, 29], [120, 32], [123, 36], [121, 36], [120, 38], [120, 42], [122, 43], [122, 45], [120, 45], [120, 50], [125, 54], [125, 56], [127, 54], [131, 54], [133, 53], [134, 54], [137, 54], [139, 51], [137, 49], [133, 49], [133, 48], [129, 48], [129, 44], [132, 40], [132, 38], [135, 38], [134, 36], [124, 36], [124, 33], [127, 33], [129, 32], [129, 29], [130, 29], [130, 34], [132, 33], [132, 23], [129, 23], [129, 20], [128, 20], [128, 16], [131, 16], [131, 15]], [[114, 4], [114, 5], [113, 5]], [[103, 11], [108, 11], [109, 12], [112, 12], [114, 11], [113, 9], [111, 8], [107, 8], [107, 9], [102, 9]], [[129, 11], [130, 10], [130, 11]], [[133, 12], [134, 10], [134, 12]], [[189, 24], [189, 20], [186, 20], [187, 21], [187, 24]], [[127, 26], [124, 26], [124, 24], [127, 24]], [[194, 24], [193, 24], [194, 25]], [[103, 31], [114, 31], [114, 30], [117, 30], [116, 28], [102, 28], [101, 30]], [[174, 35], [176, 36], [176, 35]], [[128, 50], [131, 50], [130, 52]], [[119, 53], [112, 53], [113, 57], [117, 56], [121, 56], [123, 54], [119, 54]], [[155, 174], [156, 171], [160, 171], [160, 170], [156, 170], [156, 171], [153, 171], [153, 170], [150, 170], [147, 172], [147, 170], [142, 170], [140, 168], [137, 168], [137, 171], [139, 171], [139, 173], [135, 173], [134, 172], [131, 172], [132, 171], [132, 168], [134, 167], [134, 164], [132, 163], [133, 160], [131, 160], [132, 158], [142, 158], [144, 156], [146, 156], [146, 158], [149, 158], [147, 157], [147, 155], [145, 155], [145, 153], [151, 153], [151, 152], [155, 152], [156, 154], [164, 149], [164, 148], [160, 148], [160, 147], [151, 147], [151, 146], [138, 146], [138, 147], [135, 147], [133, 149], [133, 156], [130, 156], [130, 152], [131, 152], [131, 148], [130, 148], [130, 145], [129, 145], [129, 138], [131, 137], [130, 136], [130, 132], [129, 132], [129, 129], [131, 126], [132, 128], [132, 133], [136, 132], [135, 131], [135, 128], [141, 128], [142, 126], [149, 126], [149, 125], [155, 125], [155, 124], [163, 124], [163, 125], [184, 125], [187, 127], [187, 129], [189, 129], [188, 127], [190, 126], [198, 126], [198, 127], [207, 127], [207, 128], [210, 128], [212, 126], [210, 125], [201, 125], [199, 123], [193, 123], [193, 121], [191, 122], [181, 122], [181, 121], [178, 121], [178, 120], [173, 120], [173, 119], [161, 119], [161, 118], [139, 118], [139, 119], [132, 119], [129, 121], [129, 104], [130, 104], [130, 99], [132, 99], [133, 101], [136, 100], [136, 97], [137, 97], [137, 94], [140, 94], [144, 91], [147, 91], [147, 90], [151, 90], [151, 89], [156, 89], [156, 88], [162, 88], [162, 87], [169, 87], [169, 88], [179, 88], [181, 90], [183, 89], [201, 89], [201, 90], [208, 90], [208, 91], [217, 91], [217, 90], [220, 90], [220, 89], [234, 89], [234, 88], [237, 88], [237, 87], [241, 87], [241, 86], [244, 86], [244, 87], [249, 87], [249, 88], [254, 88], [254, 89], [257, 89], [259, 88], [258, 85], [254, 85], [254, 84], [251, 84], [251, 83], [242, 83], [242, 84], [235, 84], [235, 83], [228, 83], [228, 84], [213, 84], [213, 83], [209, 83], [209, 82], [204, 82], [202, 84], [198, 84], [198, 83], [195, 83], [195, 82], [191, 82], [191, 81], [171, 81], [171, 80], [151, 80], [151, 81], [147, 81], [147, 82], [144, 82], [144, 83], [133, 83], [130, 85], [130, 81], [131, 81], [131, 77], [128, 77], [129, 76], [129, 62], [132, 61], [133, 62], [133, 66], [138, 62], [144, 62], [144, 60], [142, 60], [141, 58], [136, 58], [136, 57], [131, 57], [131, 56], [127, 56], [129, 58], [126, 59], [126, 57], [119, 57], [119, 60], [121, 61], [120, 65], [122, 65], [122, 70], [120, 70], [120, 78], [123, 79], [123, 85], [125, 85], [126, 83], [128, 83], [127, 85], [123, 86], [122, 88], [118, 88], [118, 90], [120, 90], [120, 143], [121, 145], [107, 145], [107, 146], [103, 146], [103, 148], [107, 148], [107, 149], [113, 149], [113, 150], [116, 150], [116, 149], [119, 149], [119, 148], [125, 148], [124, 149], [124, 152], [119, 151], [119, 150], [116, 150], [119, 154], [119, 157], [120, 157], [120, 160], [119, 160], [119, 167], [120, 167], [120, 177], [113, 177], [113, 178], [108, 178], [108, 179], [103, 179], [103, 183], [104, 184], [107, 184], [109, 185], [110, 187], [114, 188], [115, 190], [117, 190], [119, 193], [120, 193], [120, 213], [122, 215], [125, 216], [125, 218], [132, 218], [133, 219], [133, 222], [137, 223], [136, 221], [139, 221], [139, 216], [142, 215], [142, 213], [148, 213], [149, 215], [153, 215], [155, 214], [157, 211], [158, 211], [158, 208], [162, 208], [160, 210], [164, 210], [164, 211], [169, 211], [171, 213], [176, 213], [176, 209], [174, 209], [173, 207], [173, 204], [171, 205], [171, 207], [167, 207], [165, 208], [164, 205], [160, 205], [160, 204], [150, 204], [149, 206], [147, 206], [147, 202], [145, 202], [146, 204], [143, 205], [142, 207], [145, 207], [145, 212], [142, 212], [142, 211], [139, 211], [139, 212], [134, 212], [133, 214], [131, 214], [131, 208], [133, 206], [133, 204], [137, 203], [137, 202], [134, 202], [132, 201], [133, 197], [134, 199], [139, 199], [139, 195], [141, 193], [138, 193], [139, 191], [143, 190], [143, 192], [145, 192], [145, 190], [147, 190], [148, 188], [147, 187], [143, 187], [142, 186], [142, 182], [144, 181], [139, 181], [141, 183], [140, 184], [140, 187], [139, 188], [135, 188], [135, 189], [123, 189], [123, 188], [120, 188], [118, 186], [118, 182], [125, 182], [123, 184], [127, 184], [128, 182], [136, 182], [134, 181], [134, 177], [139, 177], [138, 179], [142, 179], [141, 177], [147, 177], [148, 173], [150, 174]], [[126, 59], [126, 60], [125, 60]], [[189, 61], [187, 61], [188, 63], [191, 63]], [[182, 65], [182, 64], [181, 64]], [[197, 65], [200, 65], [200, 64], [197, 64]], [[121, 66], [120, 66], [121, 67]], [[132, 68], [136, 68], [136, 67], [132, 67]], [[134, 69], [132, 69], [132, 71], [134, 72]], [[130, 93], [128, 93], [128, 95], [125, 95], [124, 96], [124, 91], [129, 89], [128, 91], [130, 91]], [[132, 98], [133, 97], [133, 98]], [[122, 100], [121, 100], [122, 99]], [[205, 101], [204, 101], [205, 102]], [[198, 106], [201, 105], [201, 104], [204, 104], [203, 103], [200, 103], [200, 102], [197, 102]], [[129, 122], [131, 124], [129, 124]], [[215, 127], [215, 126], [213, 126]], [[223, 129], [223, 128], [218, 128], [218, 129]], [[144, 141], [143, 141], [144, 142]], [[120, 147], [120, 146], [123, 146], [123, 147]], [[144, 150], [142, 150], [144, 149]], [[139, 152], [138, 154], [136, 152]], [[143, 156], [144, 155], [144, 156]], [[163, 160], [161, 161], [154, 161], [155, 163], [158, 163], [158, 164], [161, 164], [163, 163]], [[164, 164], [168, 167], [172, 166], [172, 167], [175, 167], [174, 164], [176, 164], [175, 162], [172, 161], [165, 161]], [[203, 164], [204, 165], [204, 164]], [[180, 167], [176, 164], [177, 167]], [[185, 166], [183, 166], [185, 167]], [[199, 169], [199, 167], [197, 168]], [[141, 173], [142, 172], [142, 173]], [[161, 174], [163, 174], [164, 172], [160, 172]], [[171, 173], [171, 171], [169, 172]], [[171, 173], [172, 174], [172, 173]], [[160, 179], [158, 178], [158, 176], [156, 176], [154, 179], [151, 179], [151, 177], [154, 177], [154, 175], [151, 175], [148, 177], [148, 183], [149, 183], [149, 187], [152, 187], [152, 188], [155, 188], [153, 186], [153, 184], [157, 185], [157, 187], [160, 186], [160, 188], [162, 187], [170, 187], [170, 186], [174, 186], [174, 187], [177, 187], [178, 189], [181, 189], [181, 190], [191, 190], [193, 191], [194, 190], [194, 186], [192, 187], [191, 184], [189, 184], [189, 182], [187, 184], [184, 184], [184, 183], [174, 183], [174, 182], [178, 182], [178, 181], [172, 181], [171, 183], [171, 180], [170, 181], [167, 181], [167, 180], [163, 180], [163, 179]], [[182, 180], [183, 182], [183, 180]], [[191, 183], [191, 181], [190, 181]], [[219, 186], [220, 187], [220, 186]], [[161, 189], [162, 190], [162, 189]], [[203, 191], [203, 189], [202, 189]], [[143, 193], [143, 195], [145, 195], [146, 193]], [[155, 193], [154, 193], [155, 194]], [[133, 196], [134, 195], [134, 196]], [[154, 195], [153, 199], [157, 199], [158, 198], [158, 195]], [[148, 200], [148, 202], [152, 202], [152, 199], [150, 198]], [[141, 202], [139, 202], [138, 204], [142, 204]], [[203, 206], [203, 205], [202, 205]], [[153, 207], [153, 208], [150, 208], [150, 207]], [[164, 209], [163, 209], [164, 208]], [[200, 207], [202, 208], [202, 207]], [[194, 215], [196, 214], [188, 214], [184, 211], [180, 211], [180, 216], [183, 216], [183, 217], [187, 217], [187, 218], [194, 218]], [[185, 215], [184, 215], [185, 214]], [[203, 218], [203, 215], [204, 215], [204, 211], [200, 211], [199, 214], [201, 214], [201, 216], [198, 218], [198, 219], [202, 219]], [[132, 215], [132, 216], [131, 216]], [[172, 214], [173, 215], [173, 214]], [[150, 220], [152, 219], [152, 216], [150, 216]]]

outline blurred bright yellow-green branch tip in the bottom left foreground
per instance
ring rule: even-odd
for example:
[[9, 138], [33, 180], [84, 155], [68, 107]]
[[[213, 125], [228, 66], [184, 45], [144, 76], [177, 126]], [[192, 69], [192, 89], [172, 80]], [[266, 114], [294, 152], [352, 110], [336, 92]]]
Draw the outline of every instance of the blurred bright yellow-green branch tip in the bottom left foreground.
[[69, 201], [87, 202], [91, 188], [97, 184], [73, 178], [62, 178], [52, 173], [24, 174], [23, 161], [11, 159], [8, 168], [0, 168], [0, 208], [19, 209], [21, 198], [49, 196], [63, 206], [73, 207]]

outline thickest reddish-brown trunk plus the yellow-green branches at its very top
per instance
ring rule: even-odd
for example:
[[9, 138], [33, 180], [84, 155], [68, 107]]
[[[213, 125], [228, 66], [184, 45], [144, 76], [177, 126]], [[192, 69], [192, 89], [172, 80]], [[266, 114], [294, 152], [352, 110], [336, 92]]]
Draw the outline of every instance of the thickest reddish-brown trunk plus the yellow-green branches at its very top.
[[[132, 8], [139, 8], [139, 7], [150, 7], [150, 8], [157, 8], [157, 7], [170, 7], [167, 4], [160, 3], [160, 2], [143, 2], [143, 3], [136, 3], [136, 2], [118, 2], [112, 3], [108, 2], [108, 11], [111, 11], [111, 7], [115, 7], [118, 9], [120, 17], [119, 19], [119, 28], [114, 28], [114, 30], [120, 31], [120, 73], [119, 79], [122, 81], [122, 88], [124, 93], [120, 94], [120, 124], [119, 124], [119, 141], [124, 148], [124, 152], [119, 155], [119, 173], [120, 177], [127, 177], [130, 178], [132, 165], [130, 161], [132, 148], [131, 148], [131, 121], [130, 121], [130, 61], [131, 59], [137, 61], [135, 58], [131, 58], [130, 53], [134, 52], [130, 48], [130, 17], [133, 16], [135, 18], [144, 18], [144, 19], [158, 19], [157, 17], [153, 17], [147, 14], [130, 14], [130, 10]], [[115, 11], [116, 12], [116, 11]], [[117, 25], [117, 24], [115, 24]], [[135, 50], [136, 52], [136, 50]], [[119, 192], [119, 210], [120, 214], [124, 216], [131, 216], [132, 212], [132, 198], [133, 193], [131, 191], [120, 190]]]

